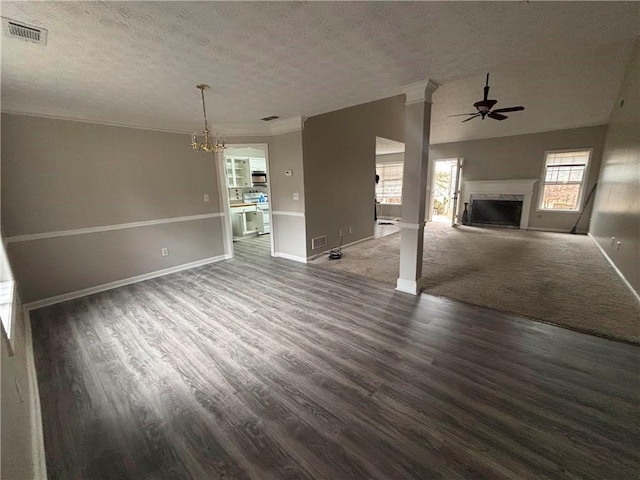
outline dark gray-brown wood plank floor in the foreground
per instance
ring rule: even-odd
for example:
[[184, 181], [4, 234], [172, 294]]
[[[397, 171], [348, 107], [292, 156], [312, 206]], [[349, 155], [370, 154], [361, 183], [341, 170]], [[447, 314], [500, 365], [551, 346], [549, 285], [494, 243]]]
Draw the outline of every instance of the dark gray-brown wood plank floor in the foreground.
[[49, 478], [638, 478], [638, 347], [234, 247], [31, 313]]

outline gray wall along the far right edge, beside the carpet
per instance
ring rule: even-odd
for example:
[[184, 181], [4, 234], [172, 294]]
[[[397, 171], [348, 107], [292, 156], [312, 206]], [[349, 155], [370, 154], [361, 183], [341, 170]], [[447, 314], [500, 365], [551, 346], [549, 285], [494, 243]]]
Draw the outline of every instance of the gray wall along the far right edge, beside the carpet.
[[[640, 293], [640, 41], [613, 107], [591, 235]], [[622, 100], [624, 104], [621, 105]], [[618, 249], [611, 237], [622, 245]]]

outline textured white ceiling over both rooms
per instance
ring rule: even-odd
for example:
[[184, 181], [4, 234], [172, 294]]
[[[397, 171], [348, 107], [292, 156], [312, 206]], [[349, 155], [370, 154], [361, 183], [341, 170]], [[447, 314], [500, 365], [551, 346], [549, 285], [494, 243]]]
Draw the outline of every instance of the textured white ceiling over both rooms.
[[[257, 131], [432, 79], [432, 143], [607, 123], [640, 24], [638, 2], [0, 5], [49, 31], [2, 36], [3, 111], [190, 132], [208, 83], [212, 123]], [[487, 72], [497, 108], [525, 111], [447, 117], [472, 111]]]

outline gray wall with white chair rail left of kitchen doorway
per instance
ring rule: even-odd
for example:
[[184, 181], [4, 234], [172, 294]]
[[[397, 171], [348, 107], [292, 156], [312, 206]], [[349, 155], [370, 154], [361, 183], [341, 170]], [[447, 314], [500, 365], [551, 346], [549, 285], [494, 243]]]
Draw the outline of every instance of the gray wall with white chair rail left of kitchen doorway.
[[[2, 115], [2, 226], [10, 242], [219, 213], [217, 182], [213, 155], [193, 152], [186, 135]], [[25, 303], [223, 253], [220, 218], [13, 241], [8, 248]]]

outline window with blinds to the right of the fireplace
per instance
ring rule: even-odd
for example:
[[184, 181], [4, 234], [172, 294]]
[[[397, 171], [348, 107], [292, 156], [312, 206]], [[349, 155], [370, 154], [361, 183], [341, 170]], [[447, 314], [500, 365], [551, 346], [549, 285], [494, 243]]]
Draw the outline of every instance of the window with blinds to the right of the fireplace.
[[548, 152], [540, 188], [540, 210], [577, 212], [591, 150]]

